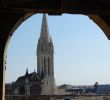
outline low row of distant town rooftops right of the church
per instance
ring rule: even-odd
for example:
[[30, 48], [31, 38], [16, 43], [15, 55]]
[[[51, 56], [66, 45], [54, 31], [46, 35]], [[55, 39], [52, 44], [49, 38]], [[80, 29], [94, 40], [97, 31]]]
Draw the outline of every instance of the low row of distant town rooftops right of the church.
[[94, 85], [60, 85], [57, 89], [59, 94], [96, 94], [107, 95], [110, 94], [110, 84]]

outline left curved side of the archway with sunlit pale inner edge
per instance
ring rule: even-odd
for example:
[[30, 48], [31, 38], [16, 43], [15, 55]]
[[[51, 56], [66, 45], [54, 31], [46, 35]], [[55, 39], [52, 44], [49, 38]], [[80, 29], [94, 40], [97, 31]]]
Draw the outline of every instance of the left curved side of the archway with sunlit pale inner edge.
[[[6, 51], [9, 44], [9, 41], [14, 33], [14, 31], [20, 26], [22, 22], [24, 22], [26, 19], [28, 19], [30, 16], [32, 16], [32, 13], [26, 13], [21, 14], [20, 16], [14, 16], [16, 17], [12, 23], [10, 23], [10, 31], [7, 28], [7, 33], [2, 33], [0, 38], [0, 100], [5, 100], [5, 70], [6, 70]], [[1, 19], [2, 20], [2, 19]], [[10, 21], [9, 21], [10, 22]], [[3, 24], [3, 23], [2, 23]], [[12, 24], [12, 25], [11, 25]], [[8, 26], [8, 27], [9, 27]], [[3, 30], [4, 32], [4, 30]], [[4, 35], [6, 34], [6, 35]]]

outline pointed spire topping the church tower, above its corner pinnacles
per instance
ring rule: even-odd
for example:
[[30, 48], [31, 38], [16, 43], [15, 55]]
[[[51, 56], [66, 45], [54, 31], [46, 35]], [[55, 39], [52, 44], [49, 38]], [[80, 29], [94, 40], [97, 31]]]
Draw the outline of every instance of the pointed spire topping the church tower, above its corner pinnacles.
[[46, 14], [43, 14], [40, 37], [45, 38], [48, 42], [50, 42], [50, 40], [51, 40], [51, 37], [49, 35], [49, 30], [48, 30], [48, 23], [47, 23]]

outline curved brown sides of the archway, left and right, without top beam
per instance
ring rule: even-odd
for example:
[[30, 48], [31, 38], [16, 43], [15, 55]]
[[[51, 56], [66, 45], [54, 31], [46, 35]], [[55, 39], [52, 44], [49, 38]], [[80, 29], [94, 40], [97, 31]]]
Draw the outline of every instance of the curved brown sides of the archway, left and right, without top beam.
[[[33, 15], [33, 13], [22, 13], [18, 14], [19, 16], [13, 16], [12, 20], [14, 22], [10, 23], [11, 27], [9, 27], [9, 30], [7, 28], [7, 33], [1, 33], [0, 34], [0, 100], [5, 100], [5, 62], [6, 62], [6, 50], [9, 44], [9, 41], [11, 39], [11, 36], [13, 35], [14, 31], [20, 26], [22, 22], [24, 22], [26, 19], [28, 19], [30, 16]], [[6, 15], [5, 15], [6, 16]], [[110, 26], [107, 24], [107, 21], [104, 20], [99, 15], [87, 15], [91, 20], [93, 20], [106, 34], [108, 39], [110, 39]], [[2, 20], [2, 19], [1, 19]], [[2, 29], [4, 32], [4, 29]], [[5, 34], [5, 35], [4, 35]]]

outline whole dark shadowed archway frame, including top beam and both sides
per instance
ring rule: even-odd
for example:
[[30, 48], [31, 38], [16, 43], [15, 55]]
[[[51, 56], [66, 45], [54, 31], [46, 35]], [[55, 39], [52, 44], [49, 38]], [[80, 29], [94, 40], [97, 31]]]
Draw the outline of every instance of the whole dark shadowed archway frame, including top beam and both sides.
[[4, 100], [5, 51], [13, 32], [35, 13], [84, 14], [110, 39], [109, 0], [0, 0], [0, 100]]

